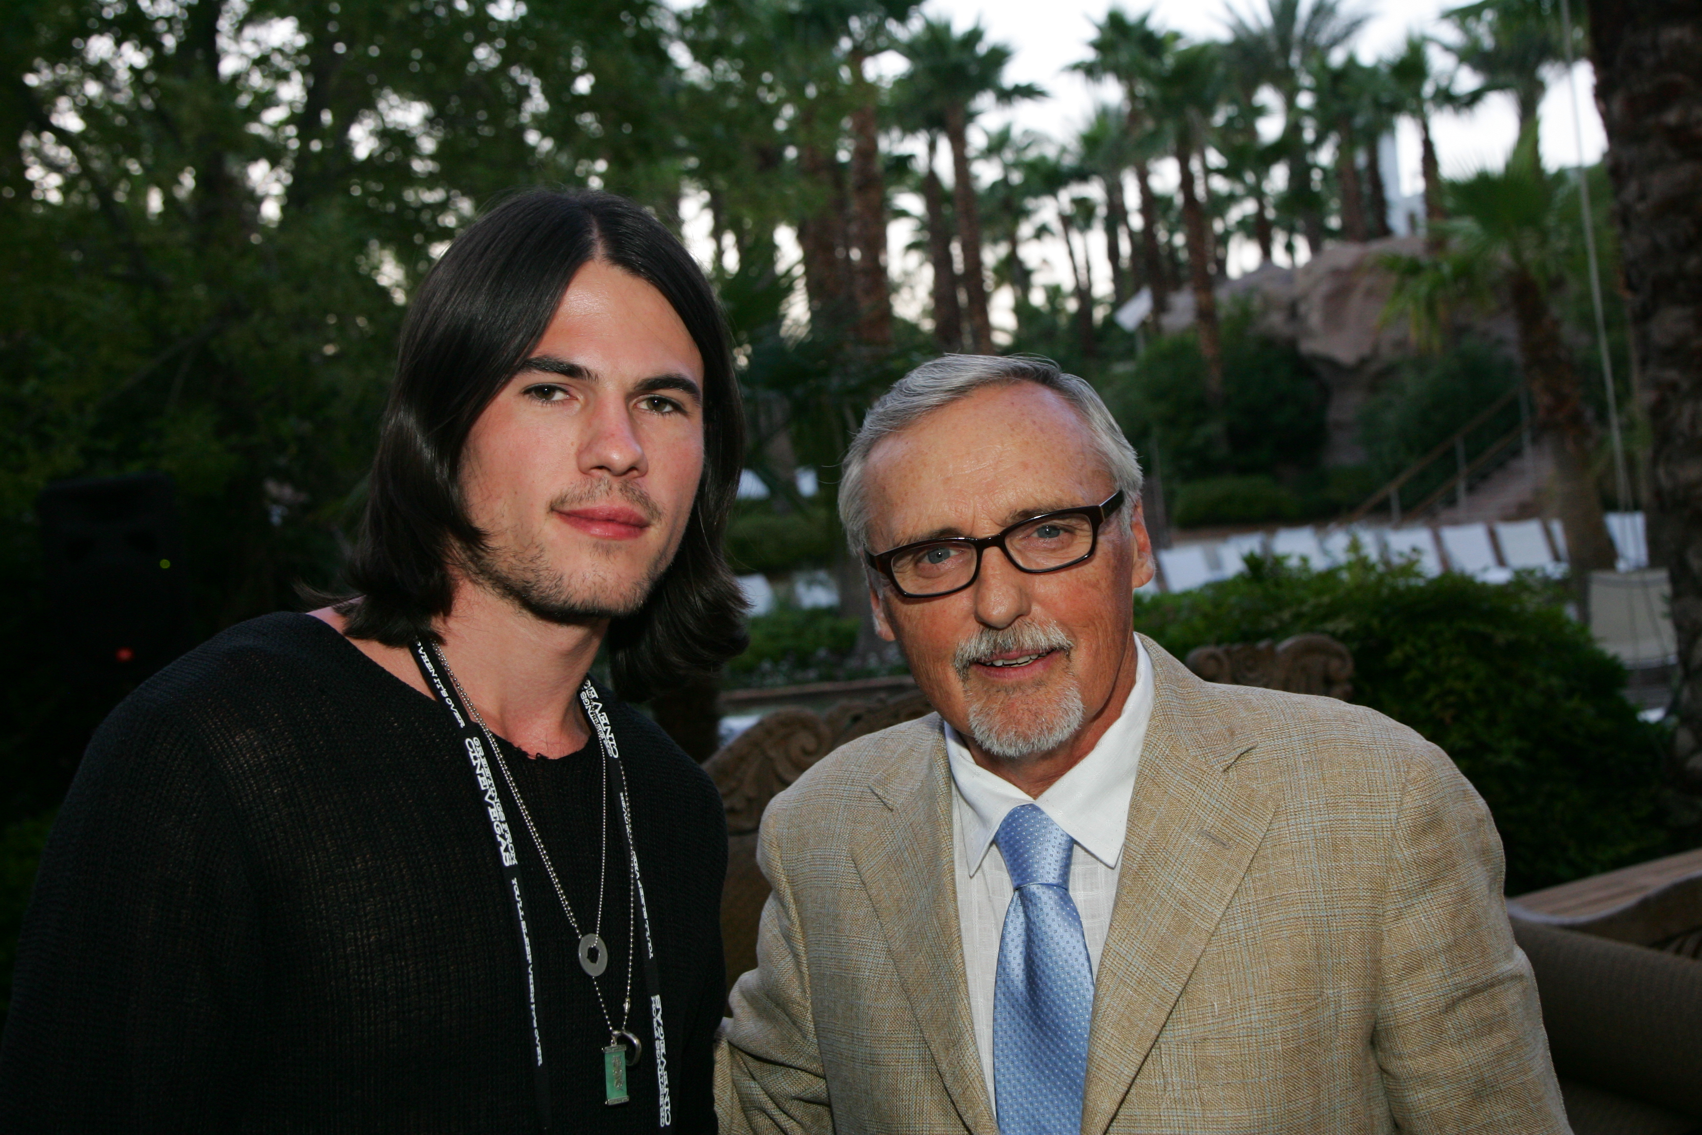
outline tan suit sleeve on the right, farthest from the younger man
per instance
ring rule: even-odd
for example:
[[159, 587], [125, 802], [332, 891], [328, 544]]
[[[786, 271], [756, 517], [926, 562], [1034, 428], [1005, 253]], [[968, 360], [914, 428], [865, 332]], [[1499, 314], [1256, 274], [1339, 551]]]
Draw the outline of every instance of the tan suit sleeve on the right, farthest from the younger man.
[[1566, 1133], [1489, 808], [1433, 747], [1396, 817], [1372, 1045], [1402, 1132]]

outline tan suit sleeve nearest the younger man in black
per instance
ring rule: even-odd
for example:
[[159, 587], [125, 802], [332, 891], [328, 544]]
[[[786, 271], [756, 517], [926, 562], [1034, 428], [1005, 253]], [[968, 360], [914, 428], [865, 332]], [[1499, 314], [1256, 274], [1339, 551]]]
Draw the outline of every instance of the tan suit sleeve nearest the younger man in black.
[[715, 1096], [723, 1132], [812, 1135], [832, 1132], [827, 1077], [810, 1012], [810, 968], [785, 864], [788, 837], [781, 800], [769, 805], [757, 839], [757, 866], [773, 892], [757, 929], [757, 968], [728, 997], [715, 1052]]

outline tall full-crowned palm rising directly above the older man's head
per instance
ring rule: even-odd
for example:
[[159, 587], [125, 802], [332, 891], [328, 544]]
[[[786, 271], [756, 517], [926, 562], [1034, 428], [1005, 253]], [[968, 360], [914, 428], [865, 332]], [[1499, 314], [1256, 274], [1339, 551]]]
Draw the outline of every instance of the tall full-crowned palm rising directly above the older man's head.
[[987, 315], [987, 277], [982, 267], [980, 209], [975, 175], [968, 165], [968, 124], [982, 100], [1009, 104], [1038, 99], [1045, 92], [1031, 83], [1006, 83], [1011, 49], [985, 43], [985, 29], [974, 24], [955, 32], [950, 20], [924, 19], [900, 49], [911, 61], [907, 80], [916, 99], [933, 107], [945, 123], [951, 146], [951, 204], [957, 211], [958, 250], [963, 254], [963, 301], [974, 347], [992, 354], [992, 320]]

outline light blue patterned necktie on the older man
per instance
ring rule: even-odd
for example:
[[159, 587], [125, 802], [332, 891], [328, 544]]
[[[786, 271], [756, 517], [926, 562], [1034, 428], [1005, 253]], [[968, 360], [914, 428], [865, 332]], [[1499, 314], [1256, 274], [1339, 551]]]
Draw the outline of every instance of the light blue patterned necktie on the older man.
[[1076, 1135], [1093, 1021], [1088, 939], [1069, 897], [1076, 841], [1031, 803], [1013, 808], [994, 839], [1016, 888], [992, 995], [999, 1135]]

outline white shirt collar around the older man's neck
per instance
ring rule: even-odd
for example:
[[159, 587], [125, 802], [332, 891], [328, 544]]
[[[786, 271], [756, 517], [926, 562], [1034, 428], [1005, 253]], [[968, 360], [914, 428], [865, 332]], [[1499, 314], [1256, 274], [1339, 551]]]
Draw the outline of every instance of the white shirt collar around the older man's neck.
[[987, 847], [999, 834], [999, 825], [1011, 808], [1037, 803], [1052, 820], [1069, 832], [1071, 839], [1088, 849], [1094, 859], [1117, 868], [1128, 832], [1128, 801], [1135, 793], [1135, 771], [1140, 749], [1147, 739], [1147, 721], [1152, 718], [1152, 659], [1135, 636], [1135, 687], [1128, 691], [1123, 710], [1099, 737], [1099, 744], [1052, 788], [1030, 798], [1021, 788], [975, 764], [957, 730], [941, 723], [946, 737], [946, 757], [951, 762], [951, 784], [963, 808], [963, 856], [970, 875], [980, 870]]

